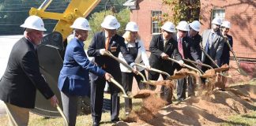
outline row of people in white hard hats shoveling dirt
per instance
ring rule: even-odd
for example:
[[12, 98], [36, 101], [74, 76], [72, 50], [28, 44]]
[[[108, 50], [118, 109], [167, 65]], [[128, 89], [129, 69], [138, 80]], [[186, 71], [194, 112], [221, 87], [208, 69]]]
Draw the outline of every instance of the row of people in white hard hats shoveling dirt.
[[[126, 24], [126, 32], [122, 36], [116, 32], [120, 24], [114, 16], [108, 15], [100, 25], [102, 31], [92, 37], [87, 51], [89, 57], [94, 57], [93, 61], [88, 60], [83, 43], [88, 37], [88, 31], [91, 30], [88, 20], [78, 17], [70, 27], [73, 28], [74, 37], [66, 46], [63, 66], [58, 78], [63, 112], [70, 126], [76, 124], [78, 97], [89, 93], [92, 125], [100, 125], [106, 81], [109, 83], [111, 93], [111, 121], [114, 123], [119, 121], [119, 87], [109, 81], [111, 78], [122, 83], [126, 92], [132, 90], [134, 77], [140, 89], [154, 90], [156, 87], [141, 83], [142, 78], [137, 76], [137, 73], [141, 72], [146, 76], [145, 69], [136, 64], [145, 65], [146, 70], [160, 69], [173, 75], [175, 69], [179, 70], [183, 67], [183, 59], [197, 61], [198, 67], [203, 71], [207, 69], [201, 67], [201, 63], [215, 67], [201, 50], [205, 50], [217, 65], [228, 64], [229, 61], [229, 49], [224, 41], [232, 45], [232, 36], [228, 35], [230, 23], [224, 21], [221, 24], [219, 18], [213, 19], [212, 29], [203, 31], [202, 35], [198, 34], [200, 31], [198, 20], [190, 24], [180, 21], [177, 27], [169, 21], [166, 22], [161, 27], [161, 33], [152, 36], [149, 46], [150, 57], [146, 54], [135, 22]], [[24, 37], [13, 46], [6, 72], [0, 81], [0, 99], [6, 104], [9, 125], [28, 125], [29, 109], [35, 107], [36, 89], [45, 98], [50, 99], [52, 106], [58, 104], [58, 99], [40, 74], [36, 53], [36, 46], [43, 38], [43, 31], [46, 31], [43, 20], [37, 16], [30, 16], [21, 27], [24, 28]], [[125, 61], [132, 69], [104, 55], [106, 51]], [[168, 57], [177, 60], [178, 64], [168, 61]], [[149, 80], [158, 80], [159, 76], [160, 73], [148, 72]], [[168, 77], [162, 76], [164, 80]], [[189, 76], [187, 81], [189, 96], [193, 96], [195, 95], [194, 79]], [[167, 105], [171, 104], [171, 91], [168, 87], [161, 88], [160, 96], [167, 101]], [[180, 101], [186, 98], [186, 78], [177, 81], [177, 96]], [[131, 109], [131, 99], [125, 98], [126, 114], [129, 114]]]

